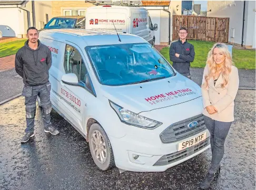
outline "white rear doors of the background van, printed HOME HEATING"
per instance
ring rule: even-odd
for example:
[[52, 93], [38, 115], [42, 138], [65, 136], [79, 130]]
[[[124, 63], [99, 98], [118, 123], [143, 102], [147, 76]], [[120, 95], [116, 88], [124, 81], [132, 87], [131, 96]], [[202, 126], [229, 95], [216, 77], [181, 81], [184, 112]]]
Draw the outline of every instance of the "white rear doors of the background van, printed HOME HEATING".
[[127, 13], [127, 8], [116, 8], [109, 5], [99, 8], [88, 8], [85, 29], [115, 32], [116, 28], [117, 32], [127, 32]]

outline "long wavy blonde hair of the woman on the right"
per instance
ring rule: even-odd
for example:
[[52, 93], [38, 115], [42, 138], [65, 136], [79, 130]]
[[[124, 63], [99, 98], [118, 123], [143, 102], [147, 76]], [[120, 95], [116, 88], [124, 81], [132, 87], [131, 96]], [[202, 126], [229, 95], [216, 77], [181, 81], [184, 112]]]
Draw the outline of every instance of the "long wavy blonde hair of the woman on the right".
[[[213, 59], [213, 50], [214, 48], [218, 48], [220, 52], [223, 53], [225, 56], [224, 63], [222, 64], [221, 68], [217, 67], [217, 64], [215, 63]], [[231, 54], [229, 52], [228, 46], [223, 43], [216, 43], [213, 45], [212, 49], [208, 53], [206, 64], [209, 66], [209, 74], [204, 76], [205, 83], [202, 85], [204, 88], [208, 87], [208, 82], [211, 77], [215, 77], [216, 73], [221, 71], [222, 77], [223, 77], [223, 83], [221, 84], [221, 87], [224, 88], [228, 82], [229, 82], [229, 74], [231, 72], [231, 67], [233, 65]]]

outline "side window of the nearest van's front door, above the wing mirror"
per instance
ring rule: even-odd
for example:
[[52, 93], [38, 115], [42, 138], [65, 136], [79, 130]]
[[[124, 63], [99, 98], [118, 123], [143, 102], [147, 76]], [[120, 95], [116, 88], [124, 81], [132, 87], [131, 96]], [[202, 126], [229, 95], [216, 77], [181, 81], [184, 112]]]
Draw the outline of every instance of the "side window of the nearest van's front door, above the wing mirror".
[[92, 82], [80, 52], [75, 47], [66, 45], [64, 60], [65, 73], [74, 73], [78, 81], [85, 83], [85, 86], [93, 92]]

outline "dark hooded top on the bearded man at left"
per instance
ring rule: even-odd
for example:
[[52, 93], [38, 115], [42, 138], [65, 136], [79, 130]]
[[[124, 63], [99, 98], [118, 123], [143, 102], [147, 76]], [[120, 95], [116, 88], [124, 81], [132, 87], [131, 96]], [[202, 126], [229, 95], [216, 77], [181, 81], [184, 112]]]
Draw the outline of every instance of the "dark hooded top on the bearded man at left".
[[52, 66], [50, 49], [38, 40], [36, 50], [28, 46], [28, 41], [15, 56], [15, 69], [27, 86], [38, 86], [49, 81], [49, 69]]

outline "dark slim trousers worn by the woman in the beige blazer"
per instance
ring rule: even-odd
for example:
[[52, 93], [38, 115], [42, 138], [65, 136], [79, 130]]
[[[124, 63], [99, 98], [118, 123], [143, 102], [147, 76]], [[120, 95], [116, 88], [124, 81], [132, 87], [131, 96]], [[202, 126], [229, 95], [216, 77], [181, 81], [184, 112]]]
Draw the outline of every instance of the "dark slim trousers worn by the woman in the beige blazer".
[[206, 128], [209, 130], [211, 137], [211, 149], [212, 149], [212, 162], [209, 169], [209, 173], [215, 173], [220, 165], [221, 159], [224, 155], [224, 143], [229, 133], [232, 122], [219, 122], [204, 115], [204, 122]]

